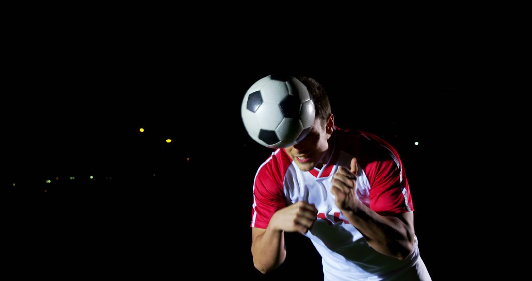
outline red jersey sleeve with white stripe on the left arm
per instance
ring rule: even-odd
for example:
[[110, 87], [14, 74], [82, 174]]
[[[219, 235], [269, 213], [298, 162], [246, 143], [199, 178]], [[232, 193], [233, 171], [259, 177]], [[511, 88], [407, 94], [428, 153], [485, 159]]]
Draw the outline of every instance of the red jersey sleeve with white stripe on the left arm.
[[273, 214], [286, 206], [282, 176], [272, 162], [264, 163], [255, 176], [251, 227], [267, 228]]

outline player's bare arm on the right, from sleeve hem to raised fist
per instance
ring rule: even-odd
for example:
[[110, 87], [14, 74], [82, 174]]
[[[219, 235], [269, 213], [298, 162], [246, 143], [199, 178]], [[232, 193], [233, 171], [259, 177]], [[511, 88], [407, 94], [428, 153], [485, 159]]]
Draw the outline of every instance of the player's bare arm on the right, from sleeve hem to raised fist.
[[355, 158], [351, 160], [351, 169], [338, 168], [331, 188], [336, 205], [373, 249], [400, 260], [406, 258], [414, 247], [413, 212], [385, 217], [362, 204], [355, 196], [357, 169]]

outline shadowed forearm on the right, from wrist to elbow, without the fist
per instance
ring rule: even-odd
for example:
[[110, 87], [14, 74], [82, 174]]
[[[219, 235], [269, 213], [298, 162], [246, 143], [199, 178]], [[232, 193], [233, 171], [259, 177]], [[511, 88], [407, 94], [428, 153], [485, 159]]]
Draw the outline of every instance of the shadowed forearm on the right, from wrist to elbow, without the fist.
[[404, 259], [412, 252], [413, 228], [401, 219], [380, 216], [364, 204], [342, 213], [377, 252], [397, 259]]

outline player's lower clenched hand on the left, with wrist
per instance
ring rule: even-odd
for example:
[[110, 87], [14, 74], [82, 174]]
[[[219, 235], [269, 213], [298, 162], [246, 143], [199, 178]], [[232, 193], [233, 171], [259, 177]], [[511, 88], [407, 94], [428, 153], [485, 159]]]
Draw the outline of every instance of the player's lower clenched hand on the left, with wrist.
[[299, 201], [273, 214], [270, 225], [276, 230], [305, 234], [312, 228], [317, 216], [318, 209], [314, 204]]

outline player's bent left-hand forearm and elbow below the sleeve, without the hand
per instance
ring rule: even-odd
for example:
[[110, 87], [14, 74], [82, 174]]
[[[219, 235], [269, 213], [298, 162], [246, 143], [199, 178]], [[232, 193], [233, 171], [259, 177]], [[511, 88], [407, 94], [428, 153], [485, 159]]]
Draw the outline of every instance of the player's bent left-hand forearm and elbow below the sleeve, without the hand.
[[281, 265], [286, 258], [285, 238], [282, 230], [268, 227], [255, 237], [251, 245], [255, 268], [266, 273]]

